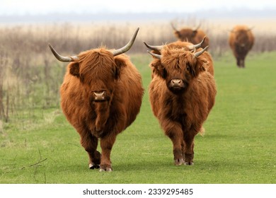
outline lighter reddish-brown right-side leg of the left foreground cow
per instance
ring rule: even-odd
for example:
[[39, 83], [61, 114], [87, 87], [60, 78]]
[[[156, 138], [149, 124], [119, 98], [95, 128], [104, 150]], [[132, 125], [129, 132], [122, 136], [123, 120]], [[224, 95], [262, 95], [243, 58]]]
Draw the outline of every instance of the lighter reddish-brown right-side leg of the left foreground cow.
[[112, 171], [110, 153], [115, 139], [116, 137], [113, 134], [100, 139], [100, 147], [102, 148], [102, 155], [100, 158], [100, 171]]

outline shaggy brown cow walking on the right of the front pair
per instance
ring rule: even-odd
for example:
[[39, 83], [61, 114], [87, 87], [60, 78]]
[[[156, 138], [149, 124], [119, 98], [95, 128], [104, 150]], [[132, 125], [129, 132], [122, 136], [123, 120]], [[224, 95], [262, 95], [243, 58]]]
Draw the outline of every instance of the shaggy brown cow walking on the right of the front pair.
[[[149, 45], [147, 45], [149, 47]], [[153, 78], [149, 85], [151, 109], [165, 134], [173, 142], [175, 165], [192, 165], [194, 138], [203, 132], [203, 122], [214, 105], [217, 94], [212, 57], [190, 42], [173, 42], [163, 47], [150, 66]], [[190, 51], [192, 50], [192, 51]]]

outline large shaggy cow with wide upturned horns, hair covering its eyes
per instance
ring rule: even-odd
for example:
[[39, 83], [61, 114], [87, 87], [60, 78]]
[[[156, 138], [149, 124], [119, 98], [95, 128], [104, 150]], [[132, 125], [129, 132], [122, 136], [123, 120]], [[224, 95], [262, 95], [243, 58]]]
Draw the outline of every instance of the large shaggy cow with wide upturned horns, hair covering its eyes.
[[[142, 103], [142, 78], [124, 52], [130, 50], [139, 28], [130, 42], [119, 50], [100, 47], [78, 56], [57, 59], [71, 62], [61, 87], [61, 105], [67, 120], [81, 136], [81, 145], [89, 156], [89, 168], [111, 171], [110, 152], [117, 134], [134, 122]], [[100, 139], [101, 155], [97, 151]]]

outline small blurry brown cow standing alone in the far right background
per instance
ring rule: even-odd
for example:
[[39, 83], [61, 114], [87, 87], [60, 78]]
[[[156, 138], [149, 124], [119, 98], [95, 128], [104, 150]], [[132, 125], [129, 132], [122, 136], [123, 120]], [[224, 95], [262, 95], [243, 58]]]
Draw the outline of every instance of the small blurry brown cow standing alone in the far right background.
[[246, 25], [236, 25], [229, 35], [229, 45], [238, 67], [245, 67], [245, 59], [254, 44], [254, 36]]

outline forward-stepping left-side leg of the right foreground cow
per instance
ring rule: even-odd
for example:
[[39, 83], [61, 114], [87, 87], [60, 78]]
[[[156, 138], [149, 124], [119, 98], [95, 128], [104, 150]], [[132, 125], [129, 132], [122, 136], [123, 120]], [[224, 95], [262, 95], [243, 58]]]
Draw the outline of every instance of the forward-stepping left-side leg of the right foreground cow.
[[178, 122], [172, 122], [167, 120], [167, 122], [161, 123], [165, 134], [173, 142], [173, 157], [175, 165], [182, 165], [184, 163], [183, 159], [183, 132], [181, 125]]

